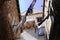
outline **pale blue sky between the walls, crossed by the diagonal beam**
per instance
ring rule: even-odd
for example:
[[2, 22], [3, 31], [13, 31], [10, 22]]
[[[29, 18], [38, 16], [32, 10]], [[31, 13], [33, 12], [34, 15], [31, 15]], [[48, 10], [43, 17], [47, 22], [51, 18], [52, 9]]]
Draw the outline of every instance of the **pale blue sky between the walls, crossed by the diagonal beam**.
[[[29, 8], [32, 1], [33, 0], [19, 0], [20, 12], [26, 11]], [[41, 7], [41, 5], [43, 5], [43, 0], [37, 0], [34, 9], [43, 10], [43, 7]]]

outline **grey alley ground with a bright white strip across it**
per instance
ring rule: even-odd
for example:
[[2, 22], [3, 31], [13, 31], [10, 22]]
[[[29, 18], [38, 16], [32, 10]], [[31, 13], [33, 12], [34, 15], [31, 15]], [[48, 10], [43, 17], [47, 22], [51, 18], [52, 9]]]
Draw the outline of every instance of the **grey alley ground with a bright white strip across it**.
[[21, 40], [46, 40], [45, 35], [38, 36], [34, 29], [24, 30], [21, 34]]

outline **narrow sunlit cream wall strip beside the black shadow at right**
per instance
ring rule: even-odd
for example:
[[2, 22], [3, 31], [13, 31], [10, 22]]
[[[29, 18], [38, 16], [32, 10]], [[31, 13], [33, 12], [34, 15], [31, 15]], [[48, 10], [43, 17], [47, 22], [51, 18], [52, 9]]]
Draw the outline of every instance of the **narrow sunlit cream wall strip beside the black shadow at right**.
[[[45, 0], [44, 18], [48, 15], [48, 8], [49, 8], [49, 0]], [[51, 28], [51, 18], [50, 18], [50, 16], [49, 16], [48, 19], [46, 19], [44, 24], [45, 24], [45, 29], [46, 29], [47, 37], [49, 39], [50, 28]]]

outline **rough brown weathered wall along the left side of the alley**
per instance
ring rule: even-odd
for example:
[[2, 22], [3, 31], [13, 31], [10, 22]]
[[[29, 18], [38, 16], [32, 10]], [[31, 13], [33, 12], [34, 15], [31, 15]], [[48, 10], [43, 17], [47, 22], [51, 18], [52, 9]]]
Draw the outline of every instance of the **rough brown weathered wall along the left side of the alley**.
[[16, 0], [0, 0], [0, 40], [16, 40], [17, 35], [13, 33], [11, 23], [19, 23]]

